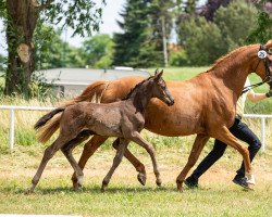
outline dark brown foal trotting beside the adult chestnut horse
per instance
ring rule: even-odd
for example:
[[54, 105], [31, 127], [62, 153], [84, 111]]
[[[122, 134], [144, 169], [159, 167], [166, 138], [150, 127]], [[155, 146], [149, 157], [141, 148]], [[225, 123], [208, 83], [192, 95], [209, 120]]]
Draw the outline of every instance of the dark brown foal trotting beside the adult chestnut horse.
[[174, 104], [174, 99], [168, 90], [165, 81], [162, 79], [163, 72], [156, 71], [151, 76], [138, 85], [122, 101], [109, 104], [97, 104], [91, 102], [78, 102], [71, 106], [58, 107], [42, 116], [35, 128], [38, 129], [50, 120], [55, 114], [62, 112], [60, 120], [60, 135], [57, 140], [46, 149], [39, 168], [32, 180], [32, 187], [26, 193], [32, 193], [38, 183], [40, 176], [48, 161], [61, 150], [74, 168], [77, 184], [82, 186], [83, 171], [72, 155], [73, 149], [87, 139], [90, 135], [104, 137], [118, 137], [120, 145], [113, 164], [103, 179], [101, 190], [104, 191], [114, 170], [122, 161], [124, 151], [134, 141], [144, 146], [151, 156], [157, 182], [160, 184], [160, 174], [158, 169], [154, 151], [140, 136], [140, 130], [145, 126], [145, 112], [152, 98], [161, 100], [170, 105]]

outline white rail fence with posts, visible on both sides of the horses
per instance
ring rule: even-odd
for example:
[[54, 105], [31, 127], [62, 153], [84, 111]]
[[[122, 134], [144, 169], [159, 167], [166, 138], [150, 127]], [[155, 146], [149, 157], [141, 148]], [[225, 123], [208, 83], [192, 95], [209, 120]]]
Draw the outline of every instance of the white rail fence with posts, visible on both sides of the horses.
[[[9, 133], [9, 143], [10, 150], [13, 150], [14, 146], [14, 135], [15, 135], [15, 110], [24, 111], [50, 111], [55, 107], [38, 107], [38, 106], [16, 106], [16, 105], [0, 105], [0, 110], [10, 111], [10, 133]], [[261, 150], [265, 150], [265, 118], [272, 118], [272, 115], [259, 115], [259, 114], [245, 114], [244, 117], [247, 118], [260, 118], [261, 119]]]

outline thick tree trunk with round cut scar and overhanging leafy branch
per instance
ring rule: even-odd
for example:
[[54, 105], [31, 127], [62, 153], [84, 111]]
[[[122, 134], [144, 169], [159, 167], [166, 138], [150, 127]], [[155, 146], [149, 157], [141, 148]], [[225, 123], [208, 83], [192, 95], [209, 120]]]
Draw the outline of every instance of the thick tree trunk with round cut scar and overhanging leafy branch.
[[94, 0], [0, 0], [7, 25], [8, 69], [5, 94], [29, 95], [30, 75], [35, 69], [33, 36], [38, 22], [62, 23], [85, 35], [98, 29], [101, 9]]

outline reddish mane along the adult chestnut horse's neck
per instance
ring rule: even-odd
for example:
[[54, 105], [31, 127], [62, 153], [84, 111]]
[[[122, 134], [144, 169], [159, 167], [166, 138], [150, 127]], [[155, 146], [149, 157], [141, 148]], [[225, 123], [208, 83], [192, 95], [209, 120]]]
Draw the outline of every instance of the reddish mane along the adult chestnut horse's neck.
[[233, 64], [234, 60], [235, 60], [235, 62], [240, 62], [240, 60], [245, 58], [244, 55], [240, 55], [240, 53], [243, 53], [247, 49], [254, 48], [256, 44], [244, 46], [244, 47], [237, 48], [234, 51], [219, 58], [208, 72], [213, 71], [215, 67], [220, 67], [223, 64], [224, 65]]

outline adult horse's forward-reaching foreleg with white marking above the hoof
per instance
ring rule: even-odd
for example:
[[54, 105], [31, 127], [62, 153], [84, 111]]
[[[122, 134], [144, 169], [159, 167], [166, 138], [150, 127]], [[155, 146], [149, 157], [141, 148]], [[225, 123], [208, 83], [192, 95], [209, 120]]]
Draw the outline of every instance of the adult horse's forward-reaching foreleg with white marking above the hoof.
[[214, 138], [233, 146], [242, 154], [244, 164], [245, 164], [245, 171], [246, 171], [245, 174], [247, 177], [248, 188], [254, 189], [255, 177], [251, 170], [251, 163], [249, 158], [248, 149], [244, 146], [243, 143], [236, 137], [234, 137], [226, 127], [222, 127], [221, 129], [218, 129]]

